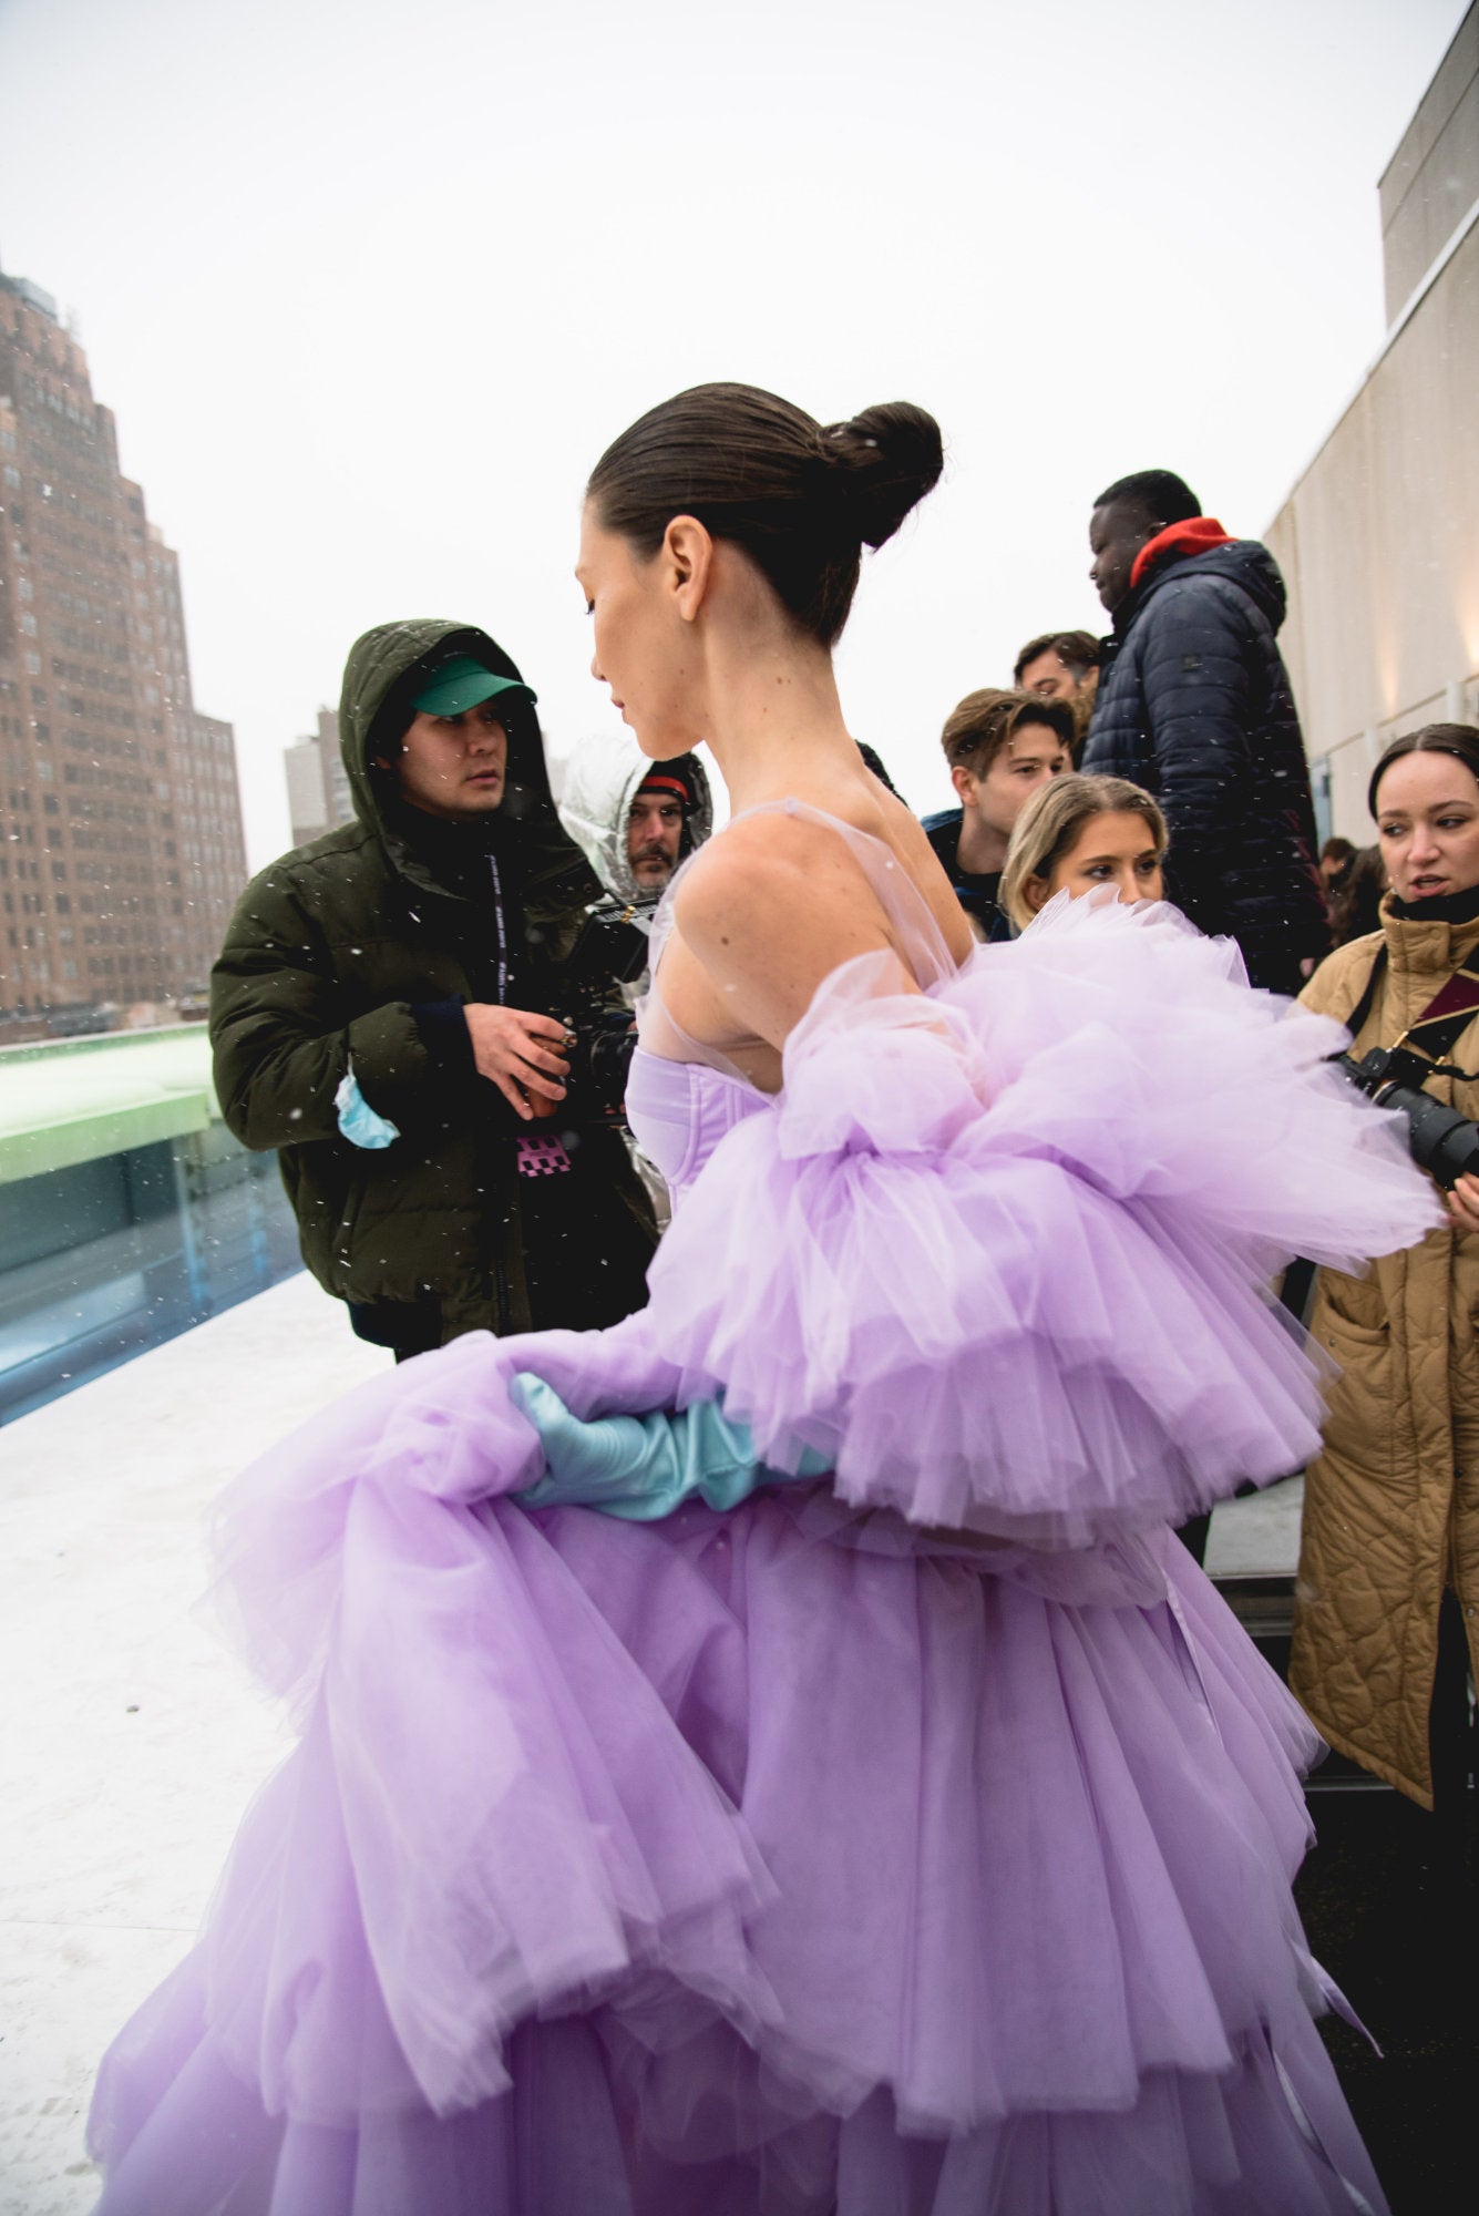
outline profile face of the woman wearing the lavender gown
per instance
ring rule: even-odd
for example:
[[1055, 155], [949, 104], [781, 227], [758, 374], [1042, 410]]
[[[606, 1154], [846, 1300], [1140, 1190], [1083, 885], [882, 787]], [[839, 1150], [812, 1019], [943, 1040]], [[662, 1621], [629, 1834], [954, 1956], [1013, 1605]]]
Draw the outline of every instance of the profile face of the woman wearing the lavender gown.
[[587, 501], [576, 578], [591, 616], [591, 676], [609, 687], [642, 753], [655, 762], [689, 753], [704, 738], [689, 716], [695, 647], [675, 609], [666, 550], [644, 561]]

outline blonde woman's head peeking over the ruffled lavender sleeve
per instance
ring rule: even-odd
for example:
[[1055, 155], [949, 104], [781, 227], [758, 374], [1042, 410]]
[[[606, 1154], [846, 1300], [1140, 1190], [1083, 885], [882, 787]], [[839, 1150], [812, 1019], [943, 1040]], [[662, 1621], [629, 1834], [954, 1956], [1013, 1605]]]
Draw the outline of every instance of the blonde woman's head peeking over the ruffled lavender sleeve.
[[1114, 884], [1125, 902], [1160, 900], [1165, 853], [1165, 815], [1140, 784], [1074, 771], [1043, 784], [1018, 815], [999, 902], [1025, 931], [1054, 893], [1078, 900]]

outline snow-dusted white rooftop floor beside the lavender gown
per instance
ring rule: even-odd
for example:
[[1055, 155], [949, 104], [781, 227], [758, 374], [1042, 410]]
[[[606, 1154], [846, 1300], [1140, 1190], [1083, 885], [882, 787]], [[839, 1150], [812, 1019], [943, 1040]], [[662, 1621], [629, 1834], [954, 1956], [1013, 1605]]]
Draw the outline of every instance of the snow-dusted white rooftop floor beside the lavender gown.
[[[97, 2059], [288, 1744], [199, 1607], [204, 1509], [385, 1363], [294, 1276], [0, 1434], [0, 2216], [91, 2209]], [[1213, 1518], [1218, 1573], [1295, 1551], [1297, 1483]]]

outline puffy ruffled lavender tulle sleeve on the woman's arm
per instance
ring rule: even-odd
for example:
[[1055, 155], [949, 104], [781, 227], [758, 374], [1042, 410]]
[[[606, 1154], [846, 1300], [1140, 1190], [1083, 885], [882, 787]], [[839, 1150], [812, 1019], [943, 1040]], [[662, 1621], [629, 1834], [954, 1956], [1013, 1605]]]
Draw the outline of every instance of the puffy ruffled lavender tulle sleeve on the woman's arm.
[[1320, 1374], [1269, 1294], [1435, 1201], [1335, 1024], [1169, 909], [1054, 902], [930, 995], [861, 957], [678, 1210], [647, 1325], [766, 1463], [1074, 1547], [1297, 1469]]

